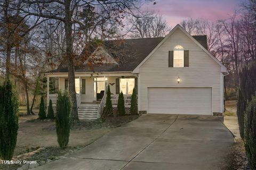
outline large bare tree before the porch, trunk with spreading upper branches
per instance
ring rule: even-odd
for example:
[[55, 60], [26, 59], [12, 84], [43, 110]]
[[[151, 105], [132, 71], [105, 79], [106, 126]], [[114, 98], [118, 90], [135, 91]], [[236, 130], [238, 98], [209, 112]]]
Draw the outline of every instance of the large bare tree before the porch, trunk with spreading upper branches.
[[[80, 44], [81, 41], [77, 41], [75, 38], [80, 37], [89, 25], [82, 20], [82, 13], [84, 9], [90, 14], [108, 14], [111, 19], [116, 20], [116, 23], [121, 22], [123, 19], [123, 13], [132, 13], [132, 10], [136, 8], [137, 1], [82, 1], [82, 0], [45, 0], [45, 1], [27, 1], [23, 0], [19, 5], [19, 10], [24, 14], [37, 16], [45, 19], [55, 20], [63, 23], [65, 30], [65, 49], [64, 55], [68, 61], [68, 81], [69, 81], [69, 93], [73, 103], [71, 120], [73, 122], [78, 121], [77, 105], [76, 105], [76, 92], [75, 92], [75, 62], [76, 53], [74, 51], [74, 44]], [[86, 15], [85, 15], [86, 16]], [[88, 16], [88, 15], [87, 15]], [[86, 19], [89, 19], [86, 16]], [[105, 18], [108, 20], [108, 18]], [[101, 19], [100, 21], [105, 21]], [[93, 22], [95, 25], [101, 25], [102, 22]]]

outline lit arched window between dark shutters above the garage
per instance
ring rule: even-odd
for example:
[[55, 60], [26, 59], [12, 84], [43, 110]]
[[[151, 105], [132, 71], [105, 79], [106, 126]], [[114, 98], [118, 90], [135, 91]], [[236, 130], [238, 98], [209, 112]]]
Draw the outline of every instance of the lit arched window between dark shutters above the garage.
[[173, 67], [184, 66], [184, 49], [182, 46], [176, 46], [173, 51]]

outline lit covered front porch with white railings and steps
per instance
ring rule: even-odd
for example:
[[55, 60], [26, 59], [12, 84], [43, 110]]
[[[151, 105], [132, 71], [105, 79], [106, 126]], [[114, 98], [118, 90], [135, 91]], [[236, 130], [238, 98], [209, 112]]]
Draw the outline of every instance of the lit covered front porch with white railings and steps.
[[[56, 75], [55, 75], [56, 76]], [[47, 76], [47, 106], [52, 100], [55, 111], [58, 91], [68, 90], [68, 77]], [[130, 76], [86, 76], [79, 75], [75, 78], [76, 100], [78, 116], [80, 119], [99, 118], [106, 104], [107, 87], [110, 87], [113, 108], [117, 107], [119, 92], [124, 94], [126, 114], [130, 113], [131, 95], [133, 88], [137, 89], [137, 77]]]

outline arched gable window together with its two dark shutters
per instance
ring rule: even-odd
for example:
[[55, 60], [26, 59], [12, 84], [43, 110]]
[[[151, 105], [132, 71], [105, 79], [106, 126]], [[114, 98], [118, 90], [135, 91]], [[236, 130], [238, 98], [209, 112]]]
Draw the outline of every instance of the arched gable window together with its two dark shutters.
[[188, 65], [188, 50], [184, 50], [182, 46], [177, 45], [172, 51], [169, 51], [169, 67], [188, 67]]

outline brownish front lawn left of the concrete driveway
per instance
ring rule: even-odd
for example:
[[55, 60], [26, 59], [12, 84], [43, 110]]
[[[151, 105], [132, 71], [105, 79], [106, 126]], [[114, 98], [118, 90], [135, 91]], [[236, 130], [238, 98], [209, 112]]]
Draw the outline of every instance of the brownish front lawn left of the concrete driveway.
[[[37, 160], [47, 162], [67, 156], [81, 149], [113, 128], [138, 118], [138, 116], [109, 117], [105, 122], [100, 120], [85, 121], [75, 124], [70, 131], [66, 149], [60, 149], [57, 142], [54, 120], [38, 120], [37, 115], [19, 117], [17, 146], [13, 160]], [[0, 169], [17, 169], [20, 165], [3, 165]]]

